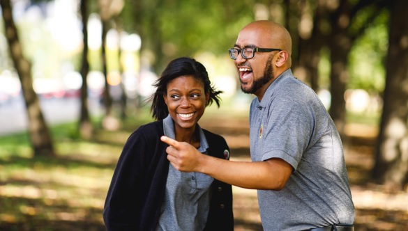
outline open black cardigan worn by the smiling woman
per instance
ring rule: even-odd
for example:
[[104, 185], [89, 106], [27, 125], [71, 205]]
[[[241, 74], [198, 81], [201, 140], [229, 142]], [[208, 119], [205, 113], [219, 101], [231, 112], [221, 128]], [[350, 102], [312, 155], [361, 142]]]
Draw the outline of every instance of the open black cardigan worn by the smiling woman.
[[[225, 139], [203, 131], [208, 154], [224, 159], [224, 150], [229, 152]], [[105, 200], [107, 230], [156, 230], [169, 172], [163, 134], [163, 120], [151, 122], [133, 132], [123, 146]], [[205, 230], [234, 230], [232, 186], [214, 180], [211, 191]]]

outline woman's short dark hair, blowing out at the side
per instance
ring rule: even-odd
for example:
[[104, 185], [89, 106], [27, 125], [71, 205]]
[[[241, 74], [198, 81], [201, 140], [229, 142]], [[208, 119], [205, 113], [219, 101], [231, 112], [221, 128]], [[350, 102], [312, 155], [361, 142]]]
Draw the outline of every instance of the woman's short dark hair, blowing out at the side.
[[167, 117], [169, 111], [167, 110], [165, 99], [163, 99], [163, 95], [167, 93], [167, 83], [177, 77], [185, 75], [192, 75], [192, 77], [202, 81], [204, 84], [204, 92], [210, 95], [209, 102], [206, 103], [206, 106], [212, 104], [214, 101], [217, 106], [220, 107], [219, 94], [222, 93], [222, 91], [213, 88], [204, 65], [195, 61], [194, 58], [181, 57], [171, 61], [165, 70], [163, 70], [162, 74], [160, 74], [160, 78], [153, 84], [153, 86], [157, 88], [156, 93], [151, 96], [151, 100], [153, 101], [151, 104], [153, 118], [162, 120]]

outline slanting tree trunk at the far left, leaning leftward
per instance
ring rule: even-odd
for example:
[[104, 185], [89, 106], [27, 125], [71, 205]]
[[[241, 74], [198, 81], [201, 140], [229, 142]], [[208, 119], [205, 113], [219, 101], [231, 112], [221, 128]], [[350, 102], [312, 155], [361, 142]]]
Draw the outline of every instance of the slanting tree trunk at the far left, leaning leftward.
[[52, 138], [50, 136], [47, 124], [45, 123], [45, 119], [40, 108], [40, 102], [33, 89], [31, 64], [22, 54], [22, 46], [20, 44], [20, 40], [17, 35], [17, 28], [13, 20], [13, 10], [10, 0], [0, 0], [0, 4], [10, 56], [13, 59], [15, 70], [22, 85], [22, 93], [29, 120], [29, 135], [31, 145], [33, 146], [33, 153], [35, 156], [53, 156], [54, 148], [52, 145]]

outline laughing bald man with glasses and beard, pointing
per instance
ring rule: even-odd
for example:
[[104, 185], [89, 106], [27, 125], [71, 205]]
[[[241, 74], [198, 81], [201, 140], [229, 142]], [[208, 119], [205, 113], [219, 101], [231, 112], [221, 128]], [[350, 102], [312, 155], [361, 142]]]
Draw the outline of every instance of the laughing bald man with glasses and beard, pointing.
[[353, 230], [354, 204], [340, 136], [315, 92], [290, 69], [292, 39], [273, 22], [245, 26], [229, 56], [250, 106], [252, 161], [200, 154], [165, 136], [178, 170], [258, 189], [264, 230]]

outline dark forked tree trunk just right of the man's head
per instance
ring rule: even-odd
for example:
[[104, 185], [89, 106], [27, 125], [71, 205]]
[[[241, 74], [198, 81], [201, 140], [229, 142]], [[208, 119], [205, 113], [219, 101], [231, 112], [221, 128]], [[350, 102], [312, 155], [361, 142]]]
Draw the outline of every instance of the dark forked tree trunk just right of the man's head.
[[[328, 1], [324, 2], [328, 4]], [[374, 13], [366, 18], [358, 29], [352, 30], [349, 27], [352, 25], [352, 21], [357, 13], [362, 12], [365, 8], [379, 10], [387, 1], [341, 0], [338, 3], [338, 8], [335, 8], [329, 14], [330, 24], [332, 25], [330, 37], [328, 38], [331, 57], [331, 107], [329, 112], [338, 128], [340, 136], [345, 140], [347, 137], [345, 136], [346, 102], [344, 95], [349, 79], [349, 72], [347, 70], [349, 52], [352, 49], [354, 40], [363, 33], [365, 28], [372, 22], [372, 19], [377, 17], [377, 14]]]

